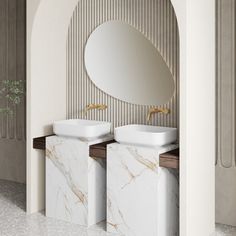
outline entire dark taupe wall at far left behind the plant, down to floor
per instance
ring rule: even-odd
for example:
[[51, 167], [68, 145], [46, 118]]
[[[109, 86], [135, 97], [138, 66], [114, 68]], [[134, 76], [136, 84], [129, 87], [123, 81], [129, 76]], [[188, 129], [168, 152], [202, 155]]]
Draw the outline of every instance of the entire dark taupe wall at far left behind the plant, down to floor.
[[[26, 80], [26, 0], [0, 0], [0, 82]], [[25, 183], [26, 103], [0, 113], [0, 179]], [[0, 96], [0, 108], [8, 100]]]

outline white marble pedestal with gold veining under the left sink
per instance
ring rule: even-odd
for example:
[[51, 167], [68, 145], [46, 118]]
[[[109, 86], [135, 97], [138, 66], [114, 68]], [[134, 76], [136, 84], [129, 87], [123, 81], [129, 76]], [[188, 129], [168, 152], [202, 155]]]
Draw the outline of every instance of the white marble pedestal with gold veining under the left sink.
[[105, 220], [105, 162], [90, 158], [89, 146], [110, 139], [47, 138], [46, 216], [88, 227]]

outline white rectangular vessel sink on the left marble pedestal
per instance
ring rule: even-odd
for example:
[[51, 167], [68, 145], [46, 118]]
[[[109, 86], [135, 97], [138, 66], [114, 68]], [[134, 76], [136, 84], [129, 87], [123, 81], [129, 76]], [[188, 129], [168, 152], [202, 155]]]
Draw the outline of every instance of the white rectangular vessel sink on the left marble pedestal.
[[110, 134], [111, 123], [81, 119], [62, 120], [53, 123], [53, 132], [58, 136], [91, 140]]

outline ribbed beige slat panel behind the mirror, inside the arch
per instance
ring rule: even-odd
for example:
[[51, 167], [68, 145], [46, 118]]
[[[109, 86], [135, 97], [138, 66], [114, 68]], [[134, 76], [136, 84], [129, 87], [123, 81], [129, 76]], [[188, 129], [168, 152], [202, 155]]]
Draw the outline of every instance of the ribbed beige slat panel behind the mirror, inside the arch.
[[[139, 106], [114, 99], [89, 79], [83, 62], [84, 47], [93, 30], [108, 20], [122, 20], [143, 33], [161, 52], [168, 64], [176, 91], [172, 100], [161, 107], [170, 108], [171, 114], [152, 117], [153, 125], [178, 127], [178, 27], [171, 3], [163, 0], [81, 0], [68, 30], [67, 44], [67, 117], [85, 118], [83, 109], [89, 103], [105, 103], [106, 111], [90, 111], [87, 119], [111, 121], [113, 127], [139, 123], [146, 124], [150, 106]], [[72, 61], [71, 61], [72, 59]]]

